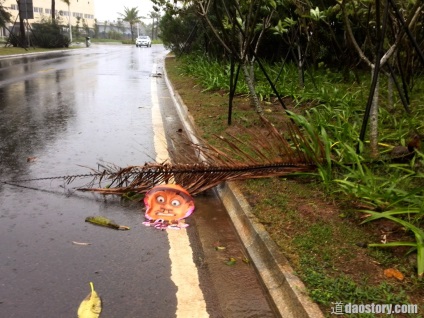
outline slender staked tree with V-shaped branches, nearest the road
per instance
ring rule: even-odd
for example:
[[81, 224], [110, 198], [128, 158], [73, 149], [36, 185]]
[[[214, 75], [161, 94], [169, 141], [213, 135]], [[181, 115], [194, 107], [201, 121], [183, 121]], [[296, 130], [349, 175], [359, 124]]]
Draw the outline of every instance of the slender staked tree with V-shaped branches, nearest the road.
[[[273, 26], [272, 22], [278, 9], [285, 5], [285, 1], [194, 0], [183, 1], [182, 5], [173, 5], [167, 0], [152, 0], [152, 2], [155, 3], [154, 10], [158, 11], [158, 7], [161, 7], [164, 11], [174, 11], [177, 15], [190, 6], [197, 9], [198, 15], [203, 19], [204, 28], [209, 28], [215, 41], [219, 43], [221, 55], [229, 56], [237, 64], [234, 82], [233, 76], [230, 79], [230, 100], [235, 92], [238, 70], [241, 69], [249, 89], [251, 104], [257, 113], [262, 114], [263, 109], [255, 88], [254, 65], [257, 63], [262, 68], [260, 61], [257, 60], [260, 45], [265, 33]], [[280, 102], [282, 103], [281, 99]]]

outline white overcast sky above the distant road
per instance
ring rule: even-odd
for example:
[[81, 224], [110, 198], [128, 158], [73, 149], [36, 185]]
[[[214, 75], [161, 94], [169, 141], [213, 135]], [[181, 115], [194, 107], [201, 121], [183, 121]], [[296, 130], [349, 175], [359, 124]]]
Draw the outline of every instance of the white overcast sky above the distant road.
[[116, 21], [120, 17], [119, 13], [124, 13], [124, 7], [138, 8], [140, 16], [147, 17], [153, 11], [152, 5], [150, 0], [94, 0], [94, 17], [98, 21]]

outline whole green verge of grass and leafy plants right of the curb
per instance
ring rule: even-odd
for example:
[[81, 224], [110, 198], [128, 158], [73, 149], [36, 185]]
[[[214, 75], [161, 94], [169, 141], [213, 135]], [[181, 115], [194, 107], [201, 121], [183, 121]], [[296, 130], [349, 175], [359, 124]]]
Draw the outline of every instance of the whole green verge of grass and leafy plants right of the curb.
[[[189, 60], [191, 63], [186, 63], [185, 58], [167, 61], [167, 72], [202, 136], [216, 145], [213, 135], [232, 129], [226, 125], [228, 70], [205, 57]], [[279, 66], [268, 69], [273, 77]], [[418, 303], [422, 313], [424, 282], [417, 278], [414, 257], [406, 256], [402, 250], [360, 247], [378, 243], [379, 227], [384, 223], [361, 225], [364, 219], [358, 207], [423, 209], [424, 158], [417, 155], [415, 161], [404, 164], [365, 163], [367, 141], [361, 144], [360, 154], [356, 153], [356, 145], [368, 96], [368, 74], [364, 74], [360, 84], [346, 83], [337, 73], [326, 70], [317, 70], [315, 75], [317, 87], [307, 82], [300, 89], [297, 70], [288, 65], [277, 86], [309, 140], [314, 143], [319, 136], [324, 143], [324, 164], [315, 174], [248, 180], [240, 184], [242, 191], [324, 313], [330, 312], [332, 301]], [[268, 106], [273, 98], [269, 87], [260, 74], [256, 79], [263, 104], [271, 110], [266, 116], [278, 125], [283, 111], [279, 106]], [[383, 79], [380, 92], [384, 92], [385, 85]], [[399, 100], [395, 100], [395, 110], [387, 110], [387, 100], [381, 96], [382, 156], [394, 145], [405, 144], [411, 127], [423, 126], [424, 104], [419, 87], [424, 87], [424, 81], [417, 80], [416, 85], [411, 94], [412, 118], [402, 111]], [[254, 126], [256, 115], [246, 108], [247, 90], [243, 84], [238, 88], [234, 122]], [[423, 213], [407, 221], [422, 226]], [[393, 238], [391, 235], [391, 240], [396, 240], [396, 235], [402, 240], [414, 240], [410, 231], [397, 232]], [[385, 278], [383, 269], [390, 267], [401, 270], [407, 279], [397, 282]]]

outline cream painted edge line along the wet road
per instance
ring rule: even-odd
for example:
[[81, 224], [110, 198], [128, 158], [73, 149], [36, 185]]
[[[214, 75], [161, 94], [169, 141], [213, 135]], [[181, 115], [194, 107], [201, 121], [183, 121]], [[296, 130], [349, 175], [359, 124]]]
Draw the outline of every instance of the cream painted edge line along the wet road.
[[[157, 65], [153, 64], [152, 74], [156, 73]], [[169, 157], [165, 129], [159, 108], [157, 93], [157, 78], [151, 77], [152, 124], [156, 162], [163, 162]], [[177, 286], [177, 312], [181, 318], [209, 317], [203, 292], [199, 287], [199, 276], [193, 262], [192, 250], [187, 231], [168, 230], [169, 258], [171, 260], [171, 279]]]

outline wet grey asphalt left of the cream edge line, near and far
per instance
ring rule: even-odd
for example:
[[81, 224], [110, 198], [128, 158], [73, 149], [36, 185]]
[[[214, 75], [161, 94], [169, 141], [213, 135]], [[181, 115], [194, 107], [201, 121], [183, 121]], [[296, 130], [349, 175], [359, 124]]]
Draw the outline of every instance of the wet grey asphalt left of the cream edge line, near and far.
[[[150, 73], [163, 48], [87, 52], [0, 61], [1, 180], [151, 161]], [[141, 228], [140, 204], [79, 195], [60, 180], [24, 185], [41, 191], [0, 186], [2, 315], [74, 316], [90, 281], [102, 317], [174, 315], [166, 233]], [[131, 230], [85, 223], [90, 215]]]

